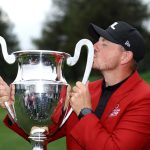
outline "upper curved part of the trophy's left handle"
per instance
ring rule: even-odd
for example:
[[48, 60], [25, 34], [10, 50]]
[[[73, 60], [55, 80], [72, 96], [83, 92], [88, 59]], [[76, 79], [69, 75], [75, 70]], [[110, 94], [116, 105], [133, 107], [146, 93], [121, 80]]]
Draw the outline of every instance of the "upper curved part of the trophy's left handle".
[[16, 61], [16, 57], [14, 54], [11, 54], [11, 55], [8, 54], [6, 41], [2, 36], [0, 36], [0, 44], [1, 44], [1, 49], [2, 49], [2, 53], [3, 53], [3, 57], [5, 61], [8, 64], [13, 64]]

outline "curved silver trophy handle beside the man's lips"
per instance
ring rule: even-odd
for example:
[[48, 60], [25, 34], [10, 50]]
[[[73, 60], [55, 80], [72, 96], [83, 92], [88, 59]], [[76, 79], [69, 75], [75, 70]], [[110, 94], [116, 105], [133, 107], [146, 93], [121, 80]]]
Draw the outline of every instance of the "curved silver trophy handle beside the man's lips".
[[[85, 68], [85, 72], [84, 72], [84, 76], [82, 79], [82, 83], [86, 84], [89, 75], [91, 73], [91, 69], [92, 69], [92, 65], [93, 65], [93, 58], [94, 58], [94, 47], [93, 44], [90, 40], [88, 39], [82, 39], [80, 40], [75, 47], [75, 52], [74, 52], [74, 56], [73, 57], [69, 57], [67, 59], [67, 64], [69, 66], [73, 66], [77, 63], [79, 56], [80, 56], [80, 52], [81, 52], [81, 48], [82, 46], [86, 46], [87, 50], [88, 50], [88, 56], [87, 56], [87, 64], [86, 64], [86, 68]], [[71, 115], [73, 109], [70, 108], [69, 112], [67, 113], [67, 115], [65, 115], [60, 127], [63, 126], [63, 124], [67, 121], [67, 119], [69, 118], [69, 116]]]

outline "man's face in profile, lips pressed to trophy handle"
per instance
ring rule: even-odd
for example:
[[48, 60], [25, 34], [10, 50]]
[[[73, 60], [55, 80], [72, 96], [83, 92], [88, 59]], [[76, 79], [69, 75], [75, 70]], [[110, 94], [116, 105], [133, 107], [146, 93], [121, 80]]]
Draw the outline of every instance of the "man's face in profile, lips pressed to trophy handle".
[[93, 68], [100, 71], [114, 70], [120, 65], [123, 48], [103, 37], [94, 44]]

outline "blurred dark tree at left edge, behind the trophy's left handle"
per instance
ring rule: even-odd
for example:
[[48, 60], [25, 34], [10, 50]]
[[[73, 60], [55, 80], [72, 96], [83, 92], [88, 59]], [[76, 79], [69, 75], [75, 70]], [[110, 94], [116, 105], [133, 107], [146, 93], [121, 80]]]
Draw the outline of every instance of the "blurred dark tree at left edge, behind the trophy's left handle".
[[[6, 40], [8, 53], [11, 54], [13, 51], [19, 50], [19, 43], [16, 35], [12, 32], [13, 25], [10, 22], [7, 14], [0, 9], [0, 36]], [[0, 47], [0, 76], [7, 82], [11, 83], [17, 72], [17, 64], [9, 65], [5, 62], [2, 50]]]

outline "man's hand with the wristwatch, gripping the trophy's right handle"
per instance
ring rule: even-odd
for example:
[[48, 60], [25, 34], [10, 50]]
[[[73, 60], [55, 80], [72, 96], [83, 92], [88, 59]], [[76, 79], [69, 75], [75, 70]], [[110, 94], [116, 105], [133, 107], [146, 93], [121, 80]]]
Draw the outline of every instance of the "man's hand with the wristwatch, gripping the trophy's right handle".
[[76, 82], [71, 93], [70, 105], [77, 115], [83, 108], [92, 108], [88, 83], [84, 85], [82, 82]]

